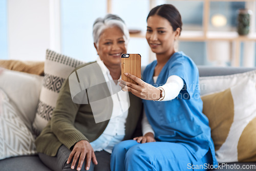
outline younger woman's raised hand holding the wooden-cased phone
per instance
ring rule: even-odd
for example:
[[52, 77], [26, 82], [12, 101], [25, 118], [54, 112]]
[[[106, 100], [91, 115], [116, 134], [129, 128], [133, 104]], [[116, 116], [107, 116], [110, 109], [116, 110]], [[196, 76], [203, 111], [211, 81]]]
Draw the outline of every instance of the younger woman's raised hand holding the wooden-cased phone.
[[124, 75], [126, 75], [129, 78], [132, 78], [135, 82], [138, 83], [138, 85], [132, 82], [126, 82], [122, 79], [119, 79], [119, 86], [121, 86], [123, 91], [129, 91], [133, 93], [135, 96], [145, 100], [158, 100], [160, 98], [160, 89], [142, 81], [135, 75], [129, 73], [124, 73]]

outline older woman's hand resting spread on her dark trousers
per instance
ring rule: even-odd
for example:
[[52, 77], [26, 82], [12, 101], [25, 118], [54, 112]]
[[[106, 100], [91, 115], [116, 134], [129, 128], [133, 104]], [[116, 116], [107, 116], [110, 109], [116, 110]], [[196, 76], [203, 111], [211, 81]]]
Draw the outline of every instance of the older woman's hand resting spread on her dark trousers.
[[71, 168], [74, 169], [76, 162], [79, 159], [76, 169], [81, 170], [82, 164], [85, 158], [86, 158], [86, 170], [89, 170], [91, 160], [93, 161], [94, 164], [98, 164], [91, 144], [86, 140], [81, 140], [75, 144], [72, 152], [69, 155], [67, 164], [69, 164], [73, 159]]

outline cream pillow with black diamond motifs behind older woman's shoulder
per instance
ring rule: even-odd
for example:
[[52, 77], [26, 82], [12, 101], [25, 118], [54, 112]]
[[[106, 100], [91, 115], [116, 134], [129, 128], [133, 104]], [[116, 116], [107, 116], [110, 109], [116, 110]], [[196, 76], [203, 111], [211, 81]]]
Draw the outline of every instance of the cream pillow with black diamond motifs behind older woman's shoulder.
[[46, 51], [45, 77], [42, 83], [36, 116], [32, 124], [33, 131], [36, 135], [40, 134], [47, 122], [51, 119], [63, 82], [82, 63], [82, 61], [58, 54], [54, 51]]

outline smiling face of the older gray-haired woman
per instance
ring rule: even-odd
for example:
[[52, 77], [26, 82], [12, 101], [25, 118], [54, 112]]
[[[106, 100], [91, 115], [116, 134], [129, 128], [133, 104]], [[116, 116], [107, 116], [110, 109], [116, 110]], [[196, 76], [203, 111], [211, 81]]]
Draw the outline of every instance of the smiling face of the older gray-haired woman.
[[106, 67], [120, 66], [121, 54], [126, 53], [126, 42], [119, 27], [105, 29], [99, 37], [98, 46], [96, 44], [94, 46]]

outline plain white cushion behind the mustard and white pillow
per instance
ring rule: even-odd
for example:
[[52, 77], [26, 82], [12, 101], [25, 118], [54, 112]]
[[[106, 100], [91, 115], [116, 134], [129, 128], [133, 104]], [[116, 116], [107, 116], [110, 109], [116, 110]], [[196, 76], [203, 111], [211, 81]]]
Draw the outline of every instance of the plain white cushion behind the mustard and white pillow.
[[245, 80], [255, 78], [256, 70], [224, 76], [199, 77], [201, 95], [219, 92], [235, 86], [236, 84]]

